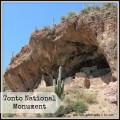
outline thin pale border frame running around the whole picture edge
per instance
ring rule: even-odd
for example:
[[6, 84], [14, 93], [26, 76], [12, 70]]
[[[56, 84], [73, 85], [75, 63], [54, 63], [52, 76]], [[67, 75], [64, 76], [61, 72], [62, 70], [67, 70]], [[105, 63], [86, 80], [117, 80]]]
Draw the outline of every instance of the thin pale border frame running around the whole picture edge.
[[[3, 13], [3, 6], [2, 6], [2, 4], [3, 3], [108, 3], [108, 2], [113, 2], [113, 3], [117, 3], [117, 7], [118, 7], [118, 17], [117, 17], [117, 30], [118, 30], [118, 32], [117, 32], [117, 38], [118, 38], [118, 46], [117, 46], [117, 50], [118, 50], [118, 52], [117, 52], [117, 77], [118, 77], [118, 106], [119, 106], [119, 1], [2, 1], [1, 2], [1, 17], [2, 17], [2, 13]], [[3, 40], [3, 36], [2, 36], [2, 29], [3, 29], [3, 23], [4, 21], [3, 21], [3, 19], [1, 18], [1, 67], [2, 67], [2, 63], [3, 63], [3, 58], [2, 58], [2, 50], [3, 50], [3, 48], [2, 48], [2, 40]], [[1, 93], [2, 93], [2, 83], [3, 83], [3, 79], [2, 79], [2, 68], [1, 68]], [[2, 94], [1, 94], [2, 95]], [[1, 97], [2, 98], [2, 97]], [[2, 102], [1, 102], [1, 106], [2, 106]], [[1, 109], [2, 110], [2, 109]], [[0, 111], [1, 112], [1, 111]], [[1, 119], [8, 119], [9, 117], [2, 117], [2, 114], [1, 114]], [[60, 117], [60, 118], [58, 118], [58, 117], [56, 117], [56, 118], [54, 118], [54, 117], [51, 117], [51, 118], [42, 118], [42, 117], [32, 117], [32, 118], [29, 118], [29, 117], [27, 117], [27, 118], [25, 118], [25, 117], [21, 117], [21, 118], [9, 118], [9, 119], [118, 119], [119, 118], [119, 108], [118, 108], [118, 116], [115, 118], [115, 117], [100, 117], [100, 118], [94, 118], [94, 117], [89, 117], [89, 118], [83, 118], [83, 117], [74, 117], [74, 118], [72, 118], [72, 117]]]

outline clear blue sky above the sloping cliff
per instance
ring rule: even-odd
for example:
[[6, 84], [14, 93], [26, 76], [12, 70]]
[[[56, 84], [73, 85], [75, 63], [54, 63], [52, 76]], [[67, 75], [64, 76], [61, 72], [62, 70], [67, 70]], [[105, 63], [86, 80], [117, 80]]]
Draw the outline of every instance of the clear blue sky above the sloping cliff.
[[[90, 4], [87, 4], [90, 5]], [[98, 4], [102, 6], [102, 3]], [[14, 55], [21, 48], [29, 44], [30, 35], [35, 27], [51, 26], [60, 23], [60, 17], [71, 10], [78, 13], [83, 9], [82, 2], [54, 3], [54, 2], [3, 2], [2, 3], [2, 73], [10, 63], [12, 52]]]

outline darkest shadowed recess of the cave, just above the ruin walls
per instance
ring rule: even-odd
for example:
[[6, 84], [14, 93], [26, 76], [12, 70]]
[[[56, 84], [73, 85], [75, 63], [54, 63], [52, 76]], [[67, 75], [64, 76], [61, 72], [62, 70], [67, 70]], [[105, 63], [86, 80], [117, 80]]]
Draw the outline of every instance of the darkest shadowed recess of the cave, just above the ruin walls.
[[68, 74], [66, 74], [65, 78], [74, 77], [75, 74], [78, 72], [84, 72], [87, 75], [87, 78], [89, 78], [89, 76], [91, 75], [96, 78], [105, 75], [111, 71], [105, 57], [101, 56], [101, 58], [78, 63], [71, 69]]

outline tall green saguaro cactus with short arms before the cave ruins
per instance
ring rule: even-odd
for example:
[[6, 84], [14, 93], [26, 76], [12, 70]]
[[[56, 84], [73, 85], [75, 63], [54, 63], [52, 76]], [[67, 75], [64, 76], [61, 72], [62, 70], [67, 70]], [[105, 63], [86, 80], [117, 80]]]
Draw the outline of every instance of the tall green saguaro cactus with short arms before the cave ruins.
[[54, 85], [54, 89], [55, 89], [55, 93], [58, 95], [59, 98], [61, 98], [61, 95], [64, 91], [64, 81], [61, 80], [61, 75], [62, 74], [62, 67], [59, 67], [59, 75], [57, 78], [57, 83], [55, 81], [55, 79], [53, 80], [53, 85]]

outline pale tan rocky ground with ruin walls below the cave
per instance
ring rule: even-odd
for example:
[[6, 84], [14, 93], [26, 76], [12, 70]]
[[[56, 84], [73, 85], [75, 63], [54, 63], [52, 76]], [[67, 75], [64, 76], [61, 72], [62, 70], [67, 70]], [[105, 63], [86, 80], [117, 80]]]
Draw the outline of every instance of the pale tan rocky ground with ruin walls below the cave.
[[[64, 89], [64, 99], [62, 100], [62, 105], [68, 103], [71, 100], [79, 100], [84, 97], [84, 101], [87, 102], [88, 110], [83, 114], [78, 114], [77, 112], [65, 113], [61, 117], [115, 117], [118, 114], [118, 103], [117, 103], [117, 81], [105, 83], [102, 78], [109, 81], [111, 74], [108, 73], [101, 77], [87, 79], [90, 81], [90, 87], [86, 88], [83, 84], [85, 82], [85, 74], [76, 73], [74, 79], [70, 81], [65, 81]], [[81, 82], [82, 81], [82, 82]], [[45, 82], [42, 80], [41, 84], [34, 92], [52, 92], [54, 87], [46, 87]], [[83, 96], [81, 95], [83, 92]], [[91, 97], [93, 96], [93, 97]], [[38, 114], [17, 114], [16, 117], [41, 117]], [[49, 117], [49, 116], [48, 116]]]

